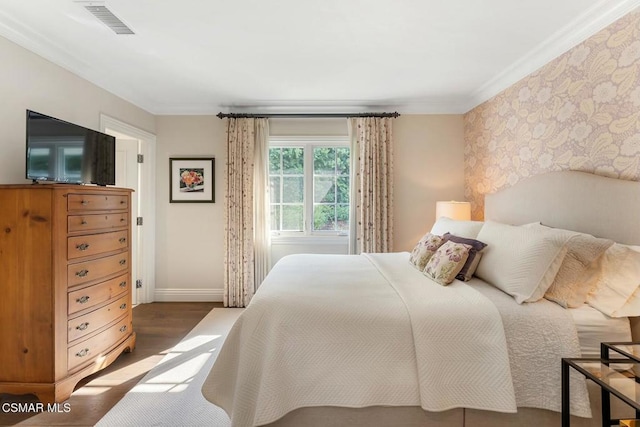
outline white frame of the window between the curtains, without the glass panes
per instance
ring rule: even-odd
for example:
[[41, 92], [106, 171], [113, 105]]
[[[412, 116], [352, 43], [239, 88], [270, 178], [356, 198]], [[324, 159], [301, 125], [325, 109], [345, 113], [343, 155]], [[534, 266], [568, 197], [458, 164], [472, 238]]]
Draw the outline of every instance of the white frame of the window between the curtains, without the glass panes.
[[[271, 147], [304, 147], [304, 221], [303, 231], [272, 230], [272, 240], [279, 243], [305, 238], [317, 243], [342, 243], [349, 238], [348, 231], [313, 230], [313, 149], [315, 147], [347, 147], [350, 148], [348, 136], [272, 136], [269, 137]], [[353, 153], [351, 153], [353, 155]], [[351, 171], [350, 171], [351, 173]], [[351, 182], [349, 182], [351, 185]], [[349, 203], [351, 204], [351, 200]], [[351, 218], [349, 218], [351, 221]]]

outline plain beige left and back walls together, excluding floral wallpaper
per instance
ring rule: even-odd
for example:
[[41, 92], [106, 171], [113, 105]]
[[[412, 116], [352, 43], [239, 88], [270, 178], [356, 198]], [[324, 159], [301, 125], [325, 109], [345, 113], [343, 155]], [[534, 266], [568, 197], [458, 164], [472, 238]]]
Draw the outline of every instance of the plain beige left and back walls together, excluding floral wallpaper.
[[[100, 113], [157, 135], [156, 300], [221, 300], [223, 289], [224, 121], [158, 116], [0, 38], [0, 183], [24, 180], [25, 111], [99, 129]], [[344, 134], [346, 121], [314, 121]], [[272, 134], [295, 135], [305, 120], [272, 120]], [[314, 125], [314, 126], [315, 126]], [[463, 193], [462, 117], [407, 115], [394, 122], [395, 249], [410, 250], [434, 220], [437, 200]], [[216, 157], [214, 204], [169, 203], [169, 157]]]

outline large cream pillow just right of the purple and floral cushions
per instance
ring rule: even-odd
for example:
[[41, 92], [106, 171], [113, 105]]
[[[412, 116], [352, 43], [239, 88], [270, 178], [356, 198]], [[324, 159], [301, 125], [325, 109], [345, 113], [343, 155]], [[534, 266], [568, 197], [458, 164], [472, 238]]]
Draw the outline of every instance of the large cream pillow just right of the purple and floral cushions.
[[556, 277], [567, 238], [545, 230], [487, 221], [478, 233], [487, 244], [476, 276], [521, 304], [538, 301]]

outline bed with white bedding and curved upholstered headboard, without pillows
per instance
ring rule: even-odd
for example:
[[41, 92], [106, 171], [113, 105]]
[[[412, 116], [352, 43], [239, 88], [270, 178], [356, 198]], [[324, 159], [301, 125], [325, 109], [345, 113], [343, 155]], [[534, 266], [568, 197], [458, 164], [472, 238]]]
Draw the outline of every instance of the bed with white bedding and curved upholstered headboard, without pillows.
[[[488, 195], [480, 227], [540, 222], [638, 245], [639, 195], [637, 182], [554, 172]], [[615, 221], [612, 206], [624, 206]], [[629, 337], [636, 323], [610, 328], [600, 316], [597, 326], [591, 310], [544, 298], [519, 304], [527, 296], [505, 293], [509, 283], [434, 285], [408, 259], [281, 260], [230, 331], [204, 396], [237, 426], [559, 425], [560, 357]], [[597, 390], [580, 375], [572, 398], [572, 425], [601, 425]]]

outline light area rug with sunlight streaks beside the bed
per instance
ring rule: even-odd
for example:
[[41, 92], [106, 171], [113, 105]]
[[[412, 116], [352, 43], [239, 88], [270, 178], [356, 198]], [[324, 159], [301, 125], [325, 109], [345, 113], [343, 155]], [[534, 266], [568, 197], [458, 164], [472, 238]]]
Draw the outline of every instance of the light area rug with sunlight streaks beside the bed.
[[227, 414], [200, 390], [240, 313], [238, 308], [214, 308], [97, 426], [230, 426]]

